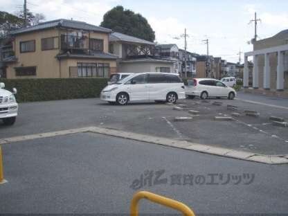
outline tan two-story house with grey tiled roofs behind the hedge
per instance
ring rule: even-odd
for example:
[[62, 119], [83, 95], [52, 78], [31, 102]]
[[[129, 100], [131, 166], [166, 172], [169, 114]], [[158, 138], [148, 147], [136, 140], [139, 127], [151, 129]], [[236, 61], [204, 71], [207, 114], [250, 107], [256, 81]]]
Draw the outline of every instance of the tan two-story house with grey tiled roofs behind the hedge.
[[107, 78], [116, 73], [110, 29], [57, 19], [11, 33], [6, 78]]

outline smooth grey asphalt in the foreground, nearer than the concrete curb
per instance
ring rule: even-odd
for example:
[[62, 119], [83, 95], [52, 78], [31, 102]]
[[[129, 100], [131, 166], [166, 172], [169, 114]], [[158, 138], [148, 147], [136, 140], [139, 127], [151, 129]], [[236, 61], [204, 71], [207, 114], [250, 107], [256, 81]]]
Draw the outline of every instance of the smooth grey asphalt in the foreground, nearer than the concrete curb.
[[[0, 185], [0, 213], [128, 213], [136, 191], [130, 186], [145, 170], [165, 170], [161, 179], [168, 182], [154, 185], [152, 181], [152, 186], [141, 190], [183, 201], [197, 215], [288, 212], [287, 165], [263, 165], [91, 133], [2, 147], [8, 183]], [[180, 174], [182, 185], [171, 185], [177, 182], [171, 179], [174, 174]], [[183, 174], [194, 175], [192, 186], [183, 186]], [[215, 177], [220, 185], [208, 185], [209, 174], [223, 174], [222, 180]], [[204, 175], [204, 184], [196, 180], [199, 175]], [[242, 181], [236, 185], [239, 176]], [[141, 202], [140, 210], [174, 213], [147, 201]]]

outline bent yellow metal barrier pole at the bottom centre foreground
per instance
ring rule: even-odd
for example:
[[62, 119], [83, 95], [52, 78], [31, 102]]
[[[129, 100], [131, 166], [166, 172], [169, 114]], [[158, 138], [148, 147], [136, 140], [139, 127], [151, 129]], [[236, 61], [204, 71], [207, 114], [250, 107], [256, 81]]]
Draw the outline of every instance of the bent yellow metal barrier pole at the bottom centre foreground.
[[183, 215], [186, 216], [195, 216], [194, 212], [185, 204], [182, 204], [181, 202], [176, 201], [174, 199], [169, 199], [167, 197], [155, 195], [154, 193], [147, 191], [137, 192], [133, 196], [130, 206], [131, 216], [138, 216], [138, 202], [140, 201], [140, 199], [148, 199], [156, 204], [161, 204], [169, 208], [174, 208], [176, 210], [181, 211], [181, 213], [183, 213]]

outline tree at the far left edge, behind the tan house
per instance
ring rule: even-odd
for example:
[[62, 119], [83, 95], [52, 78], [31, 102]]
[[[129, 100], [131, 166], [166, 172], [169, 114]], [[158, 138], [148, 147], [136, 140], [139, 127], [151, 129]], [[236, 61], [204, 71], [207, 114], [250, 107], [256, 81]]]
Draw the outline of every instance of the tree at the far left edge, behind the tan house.
[[5, 11], [0, 11], [0, 37], [5, 37], [11, 30], [21, 28], [24, 19]]

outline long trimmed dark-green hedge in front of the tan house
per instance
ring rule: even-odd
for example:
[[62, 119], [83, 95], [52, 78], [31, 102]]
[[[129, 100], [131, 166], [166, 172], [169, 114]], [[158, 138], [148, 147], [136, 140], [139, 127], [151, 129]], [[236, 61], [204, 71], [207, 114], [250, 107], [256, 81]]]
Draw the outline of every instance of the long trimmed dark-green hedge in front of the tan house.
[[107, 81], [105, 78], [0, 79], [6, 89], [17, 89], [17, 102], [95, 98]]

